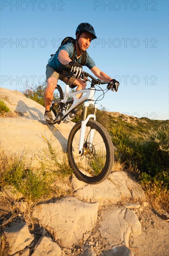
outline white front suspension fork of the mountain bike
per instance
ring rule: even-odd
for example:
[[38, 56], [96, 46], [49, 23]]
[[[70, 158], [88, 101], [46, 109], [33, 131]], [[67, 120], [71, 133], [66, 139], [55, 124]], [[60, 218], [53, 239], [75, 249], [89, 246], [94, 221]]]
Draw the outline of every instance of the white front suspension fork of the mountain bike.
[[[88, 117], [87, 117], [89, 104], [94, 105], [94, 114], [88, 115]], [[84, 102], [84, 110], [83, 110], [83, 116], [82, 116], [82, 121], [81, 121], [81, 132], [80, 132], [80, 139], [79, 139], [79, 154], [82, 154], [82, 152], [83, 152], [83, 144], [85, 142], [84, 137], [85, 137], [86, 124], [87, 124], [89, 118], [94, 118], [94, 120], [96, 120], [96, 115], [95, 115], [96, 111], [97, 111], [97, 103], [94, 103], [94, 101], [85, 101]], [[89, 132], [88, 141], [86, 141], [86, 142], [89, 142], [89, 145], [91, 145], [93, 142], [93, 139], [94, 139], [94, 129], [91, 129], [91, 131]]]

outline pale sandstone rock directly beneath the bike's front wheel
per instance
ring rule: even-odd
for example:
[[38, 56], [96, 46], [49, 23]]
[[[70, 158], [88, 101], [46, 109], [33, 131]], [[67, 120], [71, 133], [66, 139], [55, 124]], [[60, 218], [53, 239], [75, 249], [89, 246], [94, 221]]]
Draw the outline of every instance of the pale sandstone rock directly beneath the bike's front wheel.
[[86, 185], [73, 178], [75, 196], [86, 202], [100, 202], [101, 205], [121, 201], [122, 198], [144, 198], [144, 191], [124, 171], [113, 172], [109, 178], [96, 185]]

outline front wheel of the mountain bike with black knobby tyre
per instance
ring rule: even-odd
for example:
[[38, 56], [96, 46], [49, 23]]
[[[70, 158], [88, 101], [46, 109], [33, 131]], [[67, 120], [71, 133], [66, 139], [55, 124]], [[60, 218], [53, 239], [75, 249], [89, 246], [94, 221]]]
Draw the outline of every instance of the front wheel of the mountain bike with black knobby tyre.
[[79, 152], [81, 122], [75, 124], [68, 138], [69, 164], [75, 176], [88, 184], [104, 181], [113, 168], [114, 149], [106, 129], [97, 121], [86, 125], [82, 152]]

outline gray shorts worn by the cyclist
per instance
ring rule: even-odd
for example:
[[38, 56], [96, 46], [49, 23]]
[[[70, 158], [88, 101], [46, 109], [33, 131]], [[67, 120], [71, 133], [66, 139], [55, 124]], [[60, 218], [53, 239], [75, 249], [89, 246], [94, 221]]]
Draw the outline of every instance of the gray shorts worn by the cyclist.
[[[59, 80], [63, 81], [64, 83], [66, 83], [68, 80], [68, 78], [64, 74], [58, 73], [58, 71], [55, 68], [47, 65], [46, 66], [46, 81], [50, 77], [55, 77], [56, 81], [58, 81], [58, 79], [59, 79]], [[77, 85], [73, 84], [74, 81], [75, 81], [75, 78], [70, 77], [70, 79], [69, 79], [69, 87], [70, 88], [75, 88], [77, 86]]]

